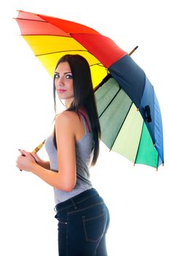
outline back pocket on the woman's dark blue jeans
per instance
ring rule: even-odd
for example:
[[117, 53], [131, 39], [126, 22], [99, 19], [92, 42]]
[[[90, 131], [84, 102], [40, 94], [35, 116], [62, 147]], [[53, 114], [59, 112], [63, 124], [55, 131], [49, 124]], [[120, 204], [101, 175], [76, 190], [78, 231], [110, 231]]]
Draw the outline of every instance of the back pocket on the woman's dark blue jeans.
[[106, 226], [105, 212], [92, 218], [82, 216], [82, 222], [86, 241], [98, 242], [103, 236]]

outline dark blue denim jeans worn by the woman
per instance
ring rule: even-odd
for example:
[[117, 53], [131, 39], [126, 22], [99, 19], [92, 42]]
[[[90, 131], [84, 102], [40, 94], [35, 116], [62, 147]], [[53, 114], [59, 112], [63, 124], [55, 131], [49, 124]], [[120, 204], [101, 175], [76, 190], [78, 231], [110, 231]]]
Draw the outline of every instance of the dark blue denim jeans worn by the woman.
[[107, 256], [109, 210], [95, 189], [55, 206], [59, 256]]

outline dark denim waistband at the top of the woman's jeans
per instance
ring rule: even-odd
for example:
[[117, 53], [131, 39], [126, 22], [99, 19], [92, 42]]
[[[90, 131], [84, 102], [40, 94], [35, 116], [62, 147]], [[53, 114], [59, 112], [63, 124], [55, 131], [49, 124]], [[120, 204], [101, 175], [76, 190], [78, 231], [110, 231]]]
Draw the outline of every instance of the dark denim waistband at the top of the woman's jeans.
[[90, 197], [94, 197], [95, 195], [99, 195], [98, 192], [92, 188], [92, 189], [87, 189], [84, 192], [80, 193], [79, 195], [76, 195], [75, 197], [71, 197], [70, 199], [62, 202], [62, 203], [58, 203], [58, 205], [55, 206], [55, 211], [59, 212], [59, 211], [63, 211], [66, 208], [69, 208], [71, 206], [74, 207], [74, 209], [76, 209], [76, 205], [78, 205], [79, 203], [84, 202], [85, 200], [87, 200]]

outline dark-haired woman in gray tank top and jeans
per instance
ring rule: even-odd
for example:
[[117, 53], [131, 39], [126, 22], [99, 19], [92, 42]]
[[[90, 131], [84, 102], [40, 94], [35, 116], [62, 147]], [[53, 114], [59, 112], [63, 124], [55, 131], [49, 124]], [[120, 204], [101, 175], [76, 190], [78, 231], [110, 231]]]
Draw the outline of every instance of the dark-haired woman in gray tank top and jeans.
[[89, 167], [99, 154], [101, 127], [86, 59], [63, 56], [55, 68], [55, 91], [66, 110], [55, 117], [45, 146], [50, 162], [21, 150], [17, 167], [54, 187], [60, 256], [106, 256], [109, 211], [93, 188]]

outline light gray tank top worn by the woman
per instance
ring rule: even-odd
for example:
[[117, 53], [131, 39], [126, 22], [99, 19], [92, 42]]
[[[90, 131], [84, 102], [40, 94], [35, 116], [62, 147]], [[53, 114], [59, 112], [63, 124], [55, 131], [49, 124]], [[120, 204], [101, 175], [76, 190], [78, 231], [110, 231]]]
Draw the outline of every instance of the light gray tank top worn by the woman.
[[[81, 140], [76, 140], [75, 142], [76, 186], [71, 190], [71, 192], [66, 192], [54, 187], [56, 205], [93, 187], [90, 181], [89, 171], [89, 167], [93, 159], [93, 132], [90, 132], [86, 117], [81, 112], [79, 112], [79, 114], [83, 119], [85, 133]], [[87, 127], [89, 132], [87, 131]], [[52, 135], [50, 135], [45, 141], [45, 148], [50, 159], [50, 169], [58, 172], [58, 152], [54, 146]]]

